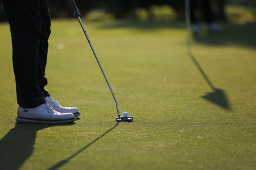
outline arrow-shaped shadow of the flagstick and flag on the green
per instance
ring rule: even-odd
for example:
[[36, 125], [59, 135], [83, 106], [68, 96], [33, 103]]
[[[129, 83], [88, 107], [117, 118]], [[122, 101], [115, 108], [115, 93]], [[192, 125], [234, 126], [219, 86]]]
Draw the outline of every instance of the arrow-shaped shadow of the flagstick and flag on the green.
[[211, 103], [216, 104], [216, 105], [218, 105], [218, 106], [220, 106], [220, 107], [222, 107], [226, 110], [230, 110], [230, 106], [229, 106], [229, 103], [228, 103], [228, 98], [227, 98], [225, 92], [221, 89], [216, 89], [214, 87], [214, 85], [211, 83], [209, 78], [206, 76], [202, 67], [200, 67], [200, 65], [198, 64], [198, 62], [196, 61], [196, 59], [195, 59], [195, 57], [193, 56], [192, 53], [189, 53], [189, 57], [194, 62], [195, 66], [198, 68], [198, 70], [200, 71], [200, 73], [204, 77], [205, 81], [208, 83], [208, 85], [213, 90], [213, 92], [207, 93], [205, 96], [202, 96], [202, 98], [204, 98], [207, 101], [210, 101]]

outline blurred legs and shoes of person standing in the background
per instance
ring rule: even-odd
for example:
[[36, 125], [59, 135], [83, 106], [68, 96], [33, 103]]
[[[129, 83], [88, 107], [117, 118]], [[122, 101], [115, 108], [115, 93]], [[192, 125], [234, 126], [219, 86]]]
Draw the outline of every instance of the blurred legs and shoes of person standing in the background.
[[[199, 9], [198, 9], [199, 8]], [[194, 32], [200, 32], [201, 26], [198, 22], [198, 18], [195, 15], [196, 9], [200, 10], [200, 15], [204, 18], [207, 24], [206, 29], [210, 32], [220, 32], [221, 28], [214, 23], [214, 18], [211, 10], [211, 0], [190, 0], [190, 16], [192, 22], [192, 28]]]

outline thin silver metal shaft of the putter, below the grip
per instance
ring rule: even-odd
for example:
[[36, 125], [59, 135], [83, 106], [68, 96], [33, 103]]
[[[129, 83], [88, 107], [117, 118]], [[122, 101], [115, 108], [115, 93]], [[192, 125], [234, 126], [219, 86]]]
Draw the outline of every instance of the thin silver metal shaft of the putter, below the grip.
[[102, 66], [101, 66], [101, 64], [100, 64], [100, 61], [99, 61], [99, 59], [98, 59], [98, 57], [97, 57], [97, 54], [96, 54], [96, 52], [95, 52], [95, 50], [94, 50], [94, 48], [93, 48], [93, 46], [92, 46], [91, 40], [90, 40], [90, 38], [89, 38], [89, 36], [88, 36], [88, 34], [87, 34], [85, 28], [84, 28], [84, 25], [83, 25], [83, 22], [82, 22], [82, 20], [81, 20], [81, 17], [79, 16], [79, 17], [77, 17], [77, 19], [78, 19], [78, 21], [79, 21], [79, 23], [80, 23], [80, 25], [81, 25], [81, 27], [82, 27], [82, 29], [83, 29], [83, 31], [84, 31], [84, 35], [86, 36], [86, 39], [87, 39], [87, 41], [88, 41], [90, 47], [92, 48], [92, 52], [93, 52], [93, 54], [94, 54], [94, 57], [95, 57], [95, 59], [97, 60], [97, 62], [98, 62], [98, 64], [99, 64], [99, 67], [100, 67], [100, 69], [101, 69], [101, 72], [102, 72], [102, 74], [103, 74], [103, 76], [104, 76], [104, 78], [105, 78], [105, 80], [106, 80], [106, 82], [107, 82], [107, 84], [108, 84], [109, 90], [111, 91], [111, 94], [112, 94], [112, 96], [113, 96], [113, 98], [114, 98], [114, 100], [115, 100], [115, 103], [116, 103], [116, 111], [117, 111], [118, 117], [120, 117], [120, 112], [119, 112], [119, 108], [118, 108], [118, 104], [117, 104], [117, 101], [116, 101], [115, 94], [114, 94], [114, 92], [113, 92], [113, 90], [112, 90], [112, 88], [111, 88], [111, 86], [110, 86], [110, 84], [109, 84], [109, 82], [108, 82], [108, 79], [107, 79], [107, 77], [106, 77], [106, 74], [105, 74], [104, 71], [103, 71], [103, 68], [102, 68]]

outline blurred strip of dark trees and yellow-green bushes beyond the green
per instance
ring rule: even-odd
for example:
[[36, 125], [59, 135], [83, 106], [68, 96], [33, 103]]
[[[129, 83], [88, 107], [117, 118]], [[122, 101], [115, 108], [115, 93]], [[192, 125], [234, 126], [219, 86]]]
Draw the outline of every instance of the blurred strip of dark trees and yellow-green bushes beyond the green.
[[[72, 17], [65, 0], [52, 0], [52, 18]], [[81, 13], [87, 20], [131, 19], [141, 21], [180, 21], [185, 18], [184, 1], [177, 0], [76, 0]], [[211, 10], [217, 22], [255, 24], [256, 0], [212, 0]], [[200, 12], [196, 13], [199, 15]], [[0, 0], [0, 22], [6, 21]]]

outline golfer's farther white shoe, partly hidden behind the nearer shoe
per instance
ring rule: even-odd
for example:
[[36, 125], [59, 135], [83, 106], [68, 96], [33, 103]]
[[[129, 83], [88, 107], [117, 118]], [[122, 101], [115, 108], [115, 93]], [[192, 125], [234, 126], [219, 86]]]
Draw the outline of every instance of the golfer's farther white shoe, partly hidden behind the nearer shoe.
[[81, 115], [77, 108], [62, 107], [58, 101], [53, 99], [51, 96], [45, 97], [45, 101], [47, 104], [49, 104], [49, 106], [51, 106], [54, 110], [59, 111], [60, 113], [73, 113], [75, 117]]

